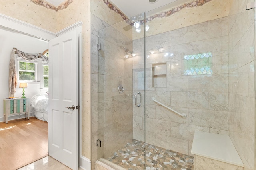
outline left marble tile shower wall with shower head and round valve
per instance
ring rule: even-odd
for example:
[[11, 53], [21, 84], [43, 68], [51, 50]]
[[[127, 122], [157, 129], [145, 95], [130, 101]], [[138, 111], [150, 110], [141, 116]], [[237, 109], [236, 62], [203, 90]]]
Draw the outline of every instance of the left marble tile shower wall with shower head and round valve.
[[[108, 158], [132, 140], [132, 39], [91, 14], [92, 162]], [[120, 23], [122, 25], [122, 23]], [[118, 25], [115, 25], [118, 27]], [[97, 50], [101, 44], [101, 50]], [[124, 93], [118, 93], [118, 86]], [[102, 147], [96, 147], [100, 139]], [[98, 154], [97, 154], [98, 153]]]

